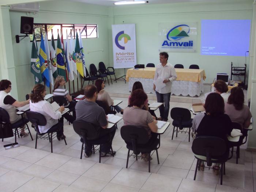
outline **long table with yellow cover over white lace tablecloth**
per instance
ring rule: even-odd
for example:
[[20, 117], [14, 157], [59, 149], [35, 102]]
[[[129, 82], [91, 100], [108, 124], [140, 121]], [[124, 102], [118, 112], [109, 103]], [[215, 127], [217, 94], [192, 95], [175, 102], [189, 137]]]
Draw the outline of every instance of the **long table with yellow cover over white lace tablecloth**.
[[[183, 96], [200, 96], [203, 92], [203, 82], [206, 79], [204, 69], [175, 69], [177, 74], [176, 81], [172, 82], [171, 94]], [[133, 83], [140, 81], [146, 93], [154, 93], [153, 79], [155, 67], [144, 69], [127, 70], [126, 80], [129, 82], [129, 91], [132, 91]]]

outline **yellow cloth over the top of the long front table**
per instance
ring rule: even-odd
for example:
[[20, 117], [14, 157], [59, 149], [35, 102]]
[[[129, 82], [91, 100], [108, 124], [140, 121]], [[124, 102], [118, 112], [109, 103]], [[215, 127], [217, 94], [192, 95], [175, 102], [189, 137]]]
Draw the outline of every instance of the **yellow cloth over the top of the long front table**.
[[[192, 81], [200, 82], [201, 78], [206, 79], [204, 69], [175, 69], [177, 79], [179, 81]], [[154, 79], [155, 67], [146, 67], [144, 69], [134, 70], [133, 68], [127, 70], [126, 80], [129, 81], [130, 77]]]

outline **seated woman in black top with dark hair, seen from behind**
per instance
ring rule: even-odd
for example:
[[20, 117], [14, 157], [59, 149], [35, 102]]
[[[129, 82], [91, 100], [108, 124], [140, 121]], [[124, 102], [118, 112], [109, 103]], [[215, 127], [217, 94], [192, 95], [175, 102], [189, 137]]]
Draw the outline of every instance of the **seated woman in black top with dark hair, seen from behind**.
[[[196, 136], [214, 136], [222, 138], [228, 142], [227, 135], [232, 131], [231, 120], [227, 114], [224, 114], [224, 100], [218, 93], [210, 93], [205, 101], [204, 108], [206, 113], [198, 113], [192, 121], [193, 132]], [[229, 153], [227, 145], [226, 153]], [[204, 165], [200, 165], [203, 170]], [[215, 174], [219, 173], [219, 165], [213, 166]]]

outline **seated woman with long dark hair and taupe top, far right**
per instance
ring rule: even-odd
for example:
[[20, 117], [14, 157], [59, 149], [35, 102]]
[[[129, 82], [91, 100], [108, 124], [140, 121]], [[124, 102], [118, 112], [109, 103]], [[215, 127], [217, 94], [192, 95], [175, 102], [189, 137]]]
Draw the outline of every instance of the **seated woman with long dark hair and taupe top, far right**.
[[244, 91], [240, 87], [233, 87], [227, 103], [225, 113], [231, 121], [237, 122], [242, 128], [248, 128], [251, 123], [252, 114], [250, 108], [244, 105]]

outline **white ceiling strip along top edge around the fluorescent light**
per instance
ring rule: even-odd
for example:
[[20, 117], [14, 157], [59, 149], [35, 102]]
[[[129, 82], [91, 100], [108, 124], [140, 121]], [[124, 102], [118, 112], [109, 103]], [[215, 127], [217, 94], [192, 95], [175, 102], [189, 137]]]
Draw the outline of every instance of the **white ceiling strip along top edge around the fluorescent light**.
[[[96, 5], [104, 5], [104, 6], [125, 6], [125, 5], [114, 5], [114, 2], [124, 1], [124, 0], [71, 0], [78, 1], [82, 3], [90, 3]], [[129, 0], [131, 1], [131, 0]], [[138, 1], [138, 0], [135, 0]], [[145, 0], [146, 1], [146, 0]], [[161, 3], [181, 3], [181, 2], [214, 2], [216, 0], [148, 0], [148, 4], [161, 4]]]

